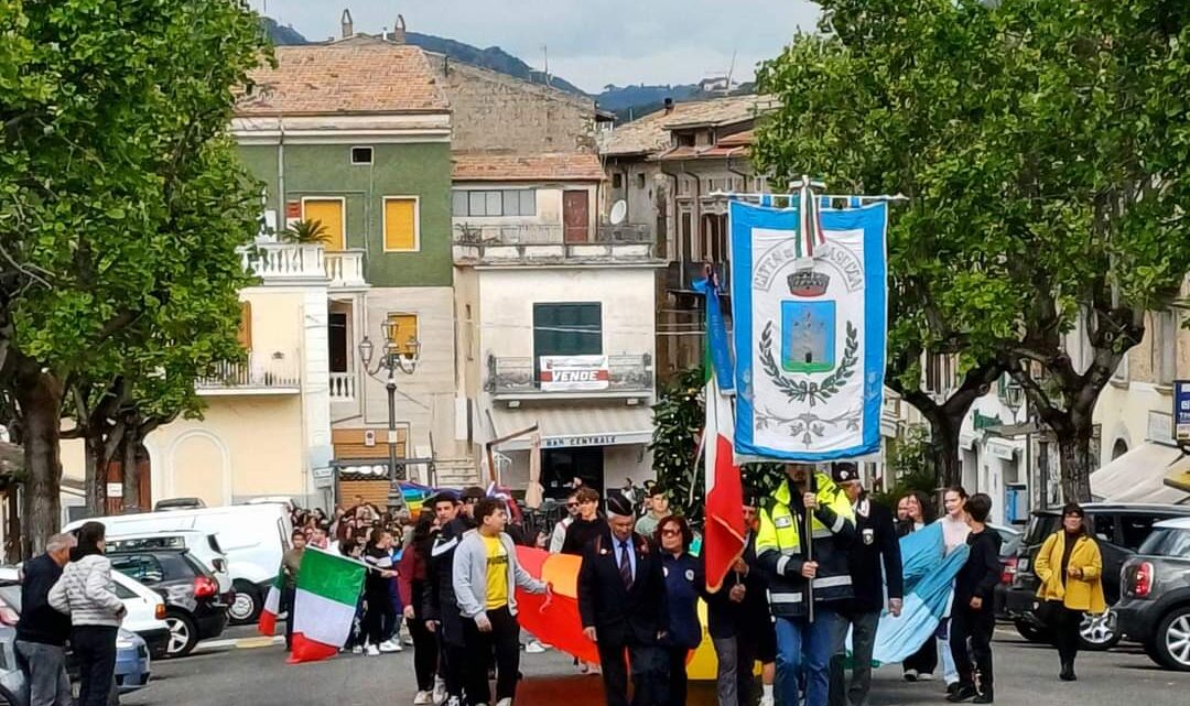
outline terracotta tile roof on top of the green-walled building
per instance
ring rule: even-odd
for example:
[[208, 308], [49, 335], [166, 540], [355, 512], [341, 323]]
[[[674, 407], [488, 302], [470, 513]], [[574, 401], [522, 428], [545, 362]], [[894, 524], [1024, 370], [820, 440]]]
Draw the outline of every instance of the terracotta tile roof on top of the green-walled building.
[[277, 68], [252, 71], [256, 87], [236, 113], [252, 115], [446, 112], [430, 62], [413, 45], [277, 46]]

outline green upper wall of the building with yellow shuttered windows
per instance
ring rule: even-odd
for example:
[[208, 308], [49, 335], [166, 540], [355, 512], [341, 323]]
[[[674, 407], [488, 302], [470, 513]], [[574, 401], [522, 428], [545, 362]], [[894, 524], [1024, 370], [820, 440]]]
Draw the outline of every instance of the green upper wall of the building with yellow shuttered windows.
[[[351, 164], [352, 146], [371, 146], [372, 164]], [[284, 146], [284, 197], [278, 194], [277, 147], [242, 146], [249, 171], [265, 187], [265, 208], [275, 210], [278, 227], [284, 202], [303, 197], [342, 197], [346, 206], [346, 245], [368, 252], [367, 278], [375, 286], [449, 286], [450, 144], [353, 144]], [[386, 253], [383, 203], [386, 196], [419, 198], [420, 250]]]

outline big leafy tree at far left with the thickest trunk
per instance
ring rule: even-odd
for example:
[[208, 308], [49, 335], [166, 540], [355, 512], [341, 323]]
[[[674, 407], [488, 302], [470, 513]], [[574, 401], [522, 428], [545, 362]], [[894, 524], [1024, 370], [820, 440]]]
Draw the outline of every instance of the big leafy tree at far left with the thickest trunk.
[[67, 395], [143, 374], [129, 358], [189, 308], [238, 315], [259, 190], [227, 128], [264, 39], [239, 0], [0, 0], [0, 384], [32, 550], [57, 527]]

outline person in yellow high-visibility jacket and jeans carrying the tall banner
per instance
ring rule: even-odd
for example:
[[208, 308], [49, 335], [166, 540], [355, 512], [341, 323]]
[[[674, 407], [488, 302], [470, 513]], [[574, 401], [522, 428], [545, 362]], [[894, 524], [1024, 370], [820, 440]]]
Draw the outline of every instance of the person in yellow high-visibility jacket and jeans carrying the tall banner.
[[831, 657], [846, 637], [840, 611], [853, 595], [846, 551], [856, 537], [854, 512], [826, 473], [804, 464], [790, 464], [785, 473], [760, 510], [756, 541], [757, 560], [771, 576], [777, 691], [782, 704], [798, 704], [804, 668], [806, 706], [826, 706]]

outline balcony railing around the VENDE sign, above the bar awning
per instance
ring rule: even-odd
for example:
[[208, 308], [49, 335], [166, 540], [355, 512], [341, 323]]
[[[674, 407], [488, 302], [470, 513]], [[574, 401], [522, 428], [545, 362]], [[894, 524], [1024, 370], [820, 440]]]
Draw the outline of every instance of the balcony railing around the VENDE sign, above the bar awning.
[[[533, 358], [489, 355], [487, 390], [496, 399], [647, 398], [653, 392], [652, 355], [608, 355], [606, 376], [601, 373], [599, 377], [600, 382], [591, 389], [556, 391], [541, 384]], [[605, 377], [606, 384], [602, 380]]]

